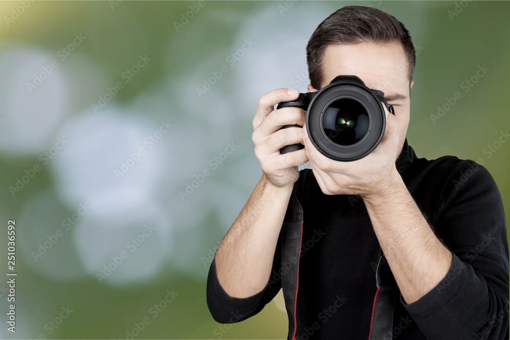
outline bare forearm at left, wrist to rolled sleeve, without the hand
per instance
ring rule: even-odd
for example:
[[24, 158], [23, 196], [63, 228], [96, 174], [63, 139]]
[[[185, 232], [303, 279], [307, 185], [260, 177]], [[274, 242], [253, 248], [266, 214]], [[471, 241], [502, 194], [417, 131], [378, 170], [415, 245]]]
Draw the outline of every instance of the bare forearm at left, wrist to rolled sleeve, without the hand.
[[215, 255], [218, 280], [232, 297], [259, 293], [271, 274], [274, 251], [292, 193], [259, 180]]

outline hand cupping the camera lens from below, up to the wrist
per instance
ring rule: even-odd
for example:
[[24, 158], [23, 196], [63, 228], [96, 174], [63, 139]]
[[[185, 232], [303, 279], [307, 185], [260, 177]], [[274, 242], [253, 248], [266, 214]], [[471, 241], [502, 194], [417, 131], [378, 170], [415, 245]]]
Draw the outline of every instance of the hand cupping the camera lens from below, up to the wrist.
[[386, 130], [381, 143], [366, 157], [353, 162], [334, 161], [321, 154], [303, 128], [304, 147], [322, 192], [326, 195], [361, 195], [364, 198], [391, 189], [399, 173], [398, 122], [386, 111]]

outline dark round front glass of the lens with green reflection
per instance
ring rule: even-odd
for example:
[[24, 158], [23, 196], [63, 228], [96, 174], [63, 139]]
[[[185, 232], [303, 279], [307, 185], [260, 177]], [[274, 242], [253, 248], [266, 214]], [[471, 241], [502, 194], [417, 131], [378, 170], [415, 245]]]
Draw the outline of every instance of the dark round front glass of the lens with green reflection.
[[368, 132], [370, 118], [363, 104], [351, 98], [331, 103], [322, 116], [324, 134], [338, 145], [353, 145]]

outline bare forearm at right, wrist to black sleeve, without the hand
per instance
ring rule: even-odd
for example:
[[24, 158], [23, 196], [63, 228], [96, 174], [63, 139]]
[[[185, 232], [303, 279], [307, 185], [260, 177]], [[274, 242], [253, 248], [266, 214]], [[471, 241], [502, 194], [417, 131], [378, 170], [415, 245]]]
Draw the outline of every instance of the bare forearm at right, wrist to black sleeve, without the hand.
[[364, 197], [375, 234], [407, 304], [432, 290], [448, 273], [451, 252], [423, 217], [402, 178], [384, 193]]

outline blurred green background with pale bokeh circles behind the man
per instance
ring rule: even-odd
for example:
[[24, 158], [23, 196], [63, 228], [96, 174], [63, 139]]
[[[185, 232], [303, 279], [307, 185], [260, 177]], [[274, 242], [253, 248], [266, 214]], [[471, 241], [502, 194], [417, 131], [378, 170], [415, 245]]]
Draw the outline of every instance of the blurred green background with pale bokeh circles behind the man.
[[259, 96], [304, 92], [310, 35], [354, 3], [411, 32], [417, 154], [483, 163], [508, 214], [510, 143], [498, 144], [510, 127], [508, 2], [2, 2], [0, 337], [286, 338], [281, 296], [240, 324], [214, 322], [207, 272], [261, 174], [250, 137]]

